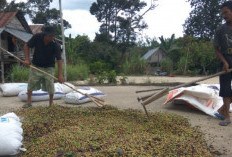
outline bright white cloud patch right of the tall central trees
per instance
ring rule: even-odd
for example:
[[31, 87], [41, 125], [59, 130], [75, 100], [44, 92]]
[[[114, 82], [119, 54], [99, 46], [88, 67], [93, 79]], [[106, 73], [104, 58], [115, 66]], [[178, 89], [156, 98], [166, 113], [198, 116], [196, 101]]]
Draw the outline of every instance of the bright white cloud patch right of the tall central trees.
[[143, 31], [143, 35], [149, 37], [170, 38], [172, 34], [176, 37], [183, 36], [183, 24], [191, 11], [190, 4], [185, 0], [162, 0], [158, 6], [148, 12], [145, 21], [148, 29]]

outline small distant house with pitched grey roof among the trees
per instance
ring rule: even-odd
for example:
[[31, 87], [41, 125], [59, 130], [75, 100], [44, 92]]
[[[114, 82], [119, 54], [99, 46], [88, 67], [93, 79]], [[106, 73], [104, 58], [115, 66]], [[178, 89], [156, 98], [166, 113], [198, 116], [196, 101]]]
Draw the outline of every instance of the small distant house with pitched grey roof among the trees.
[[147, 72], [148, 74], [154, 74], [156, 70], [160, 70], [160, 63], [165, 58], [167, 58], [167, 54], [160, 47], [147, 51], [147, 53], [141, 57], [141, 59], [146, 60], [150, 64], [150, 68]]

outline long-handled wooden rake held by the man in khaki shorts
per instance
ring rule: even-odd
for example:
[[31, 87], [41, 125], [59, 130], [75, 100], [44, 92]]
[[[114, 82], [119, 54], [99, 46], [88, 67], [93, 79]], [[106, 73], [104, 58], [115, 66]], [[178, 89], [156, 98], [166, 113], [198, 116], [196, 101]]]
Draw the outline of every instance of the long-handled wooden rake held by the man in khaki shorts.
[[[3, 52], [9, 54], [10, 56], [14, 57], [15, 59], [17, 59], [17, 60], [20, 61], [21, 63], [24, 63], [23, 60], [21, 60], [20, 58], [18, 58], [18, 57], [15, 56], [15, 55], [13, 55], [13, 54], [10, 53], [9, 51], [5, 50], [4, 48], [0, 47], [0, 50], [2, 50]], [[37, 71], [39, 71], [39, 72], [41, 72], [41, 73], [43, 73], [43, 74], [45, 74], [45, 75], [47, 75], [47, 76], [49, 76], [49, 77], [51, 77], [51, 78], [53, 78], [53, 79], [56, 80], [56, 81], [58, 81], [58, 78], [56, 78], [55, 76], [53, 76], [53, 75], [51, 75], [51, 74], [49, 74], [49, 73], [47, 73], [47, 72], [45, 72], [45, 71], [43, 71], [43, 70], [41, 70], [41, 69], [35, 67], [35, 66], [33, 66], [33, 65], [30, 65], [29, 67], [32, 68], [32, 69], [35, 69], [35, 70], [37, 70]], [[78, 91], [77, 89], [73, 88], [72, 86], [70, 86], [69, 84], [67, 84], [67, 83], [65, 83], [65, 82], [64, 82], [63, 84], [66, 85], [66, 86], [68, 86], [69, 88], [73, 89], [74, 91], [76, 91], [76, 92], [78, 92], [78, 93], [80, 93], [80, 94], [82, 94], [82, 95], [85, 95], [86, 97], [88, 97], [89, 99], [91, 99], [98, 107], [104, 106], [104, 102], [105, 102], [105, 101], [104, 101], [103, 99], [94, 97], [94, 96], [92, 96], [92, 95], [90, 95], [90, 94], [86, 94], [86, 93], [83, 93], [83, 92], [81, 92], [81, 91]]]

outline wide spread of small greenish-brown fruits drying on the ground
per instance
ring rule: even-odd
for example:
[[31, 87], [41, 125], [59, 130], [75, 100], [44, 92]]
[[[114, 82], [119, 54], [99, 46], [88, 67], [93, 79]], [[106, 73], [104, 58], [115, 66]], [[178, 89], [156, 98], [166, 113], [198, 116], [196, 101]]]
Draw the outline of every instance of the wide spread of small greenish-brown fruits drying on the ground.
[[36, 107], [19, 110], [24, 147], [20, 156], [212, 156], [203, 134], [187, 119], [104, 108]]

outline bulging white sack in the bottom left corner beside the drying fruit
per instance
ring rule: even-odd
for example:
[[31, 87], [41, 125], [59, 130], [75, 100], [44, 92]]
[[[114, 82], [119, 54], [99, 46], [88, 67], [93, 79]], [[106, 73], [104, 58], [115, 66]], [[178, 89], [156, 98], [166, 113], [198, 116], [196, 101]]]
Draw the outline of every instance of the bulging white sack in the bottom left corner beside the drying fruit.
[[0, 156], [17, 155], [22, 149], [22, 123], [15, 113], [0, 117]]

